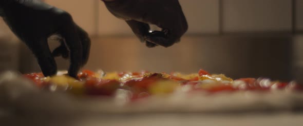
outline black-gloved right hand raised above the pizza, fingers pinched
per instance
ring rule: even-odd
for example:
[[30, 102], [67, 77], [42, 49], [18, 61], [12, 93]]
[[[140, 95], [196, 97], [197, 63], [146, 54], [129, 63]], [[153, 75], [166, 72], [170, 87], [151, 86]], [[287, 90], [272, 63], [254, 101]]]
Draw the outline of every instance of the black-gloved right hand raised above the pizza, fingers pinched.
[[[116, 17], [126, 20], [132, 31], [147, 47], [169, 47], [180, 40], [187, 22], [178, 0], [103, 0]], [[148, 24], [162, 31], [149, 32]]]

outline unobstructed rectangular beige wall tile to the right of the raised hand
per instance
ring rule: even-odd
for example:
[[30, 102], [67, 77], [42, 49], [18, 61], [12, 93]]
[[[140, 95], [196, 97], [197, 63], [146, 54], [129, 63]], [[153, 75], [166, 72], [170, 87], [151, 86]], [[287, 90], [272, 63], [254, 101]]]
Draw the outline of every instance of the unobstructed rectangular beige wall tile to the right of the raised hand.
[[291, 31], [290, 0], [223, 1], [224, 32]]

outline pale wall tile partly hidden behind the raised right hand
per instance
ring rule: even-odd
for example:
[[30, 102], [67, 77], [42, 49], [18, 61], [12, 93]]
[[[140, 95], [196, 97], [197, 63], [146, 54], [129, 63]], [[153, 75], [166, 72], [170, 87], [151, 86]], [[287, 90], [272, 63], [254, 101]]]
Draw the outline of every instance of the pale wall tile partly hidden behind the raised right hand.
[[[218, 0], [179, 0], [188, 22], [187, 34], [218, 33]], [[132, 34], [127, 24], [100, 4], [100, 35]]]

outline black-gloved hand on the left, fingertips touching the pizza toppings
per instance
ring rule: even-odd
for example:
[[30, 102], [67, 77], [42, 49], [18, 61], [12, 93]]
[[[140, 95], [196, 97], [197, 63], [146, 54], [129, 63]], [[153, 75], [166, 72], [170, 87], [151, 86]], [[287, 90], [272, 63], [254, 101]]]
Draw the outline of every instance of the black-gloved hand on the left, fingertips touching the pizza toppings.
[[[39, 0], [0, 0], [2, 17], [14, 34], [26, 43], [45, 76], [56, 74], [55, 56], [70, 56], [69, 75], [76, 77], [88, 60], [90, 39], [71, 15]], [[63, 40], [51, 53], [47, 38], [58, 34]], [[70, 52], [70, 54], [69, 54]]]

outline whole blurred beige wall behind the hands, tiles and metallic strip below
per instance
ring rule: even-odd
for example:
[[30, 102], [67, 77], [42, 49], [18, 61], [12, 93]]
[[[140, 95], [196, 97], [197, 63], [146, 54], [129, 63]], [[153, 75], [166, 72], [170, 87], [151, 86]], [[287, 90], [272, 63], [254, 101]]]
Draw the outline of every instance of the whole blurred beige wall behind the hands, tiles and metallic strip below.
[[[75, 22], [92, 36], [91, 58], [85, 66], [87, 69], [106, 71], [147, 69], [188, 73], [204, 68], [232, 77], [271, 74], [274, 78], [281, 78], [283, 74], [289, 72], [290, 50], [283, 49], [283, 46], [291, 45], [293, 36], [283, 34], [272, 37], [263, 34], [260, 37], [255, 34], [248, 36], [233, 34], [226, 37], [220, 36], [219, 33], [220, 29], [224, 34], [291, 33], [291, 0], [222, 0], [222, 18], [219, 16], [220, 0], [179, 0], [189, 29], [181, 43], [167, 49], [161, 47], [148, 49], [139, 43], [126, 23], [112, 16], [99, 0], [46, 0], [46, 2], [71, 13]], [[296, 7], [297, 29], [303, 30], [303, 1], [297, 0]], [[7, 26], [2, 26], [5, 28], [1, 27], [1, 30], [6, 29], [10, 32]], [[300, 35], [296, 38], [294, 64], [295, 68], [303, 68], [300, 63], [303, 62], [303, 58], [300, 58], [303, 57], [300, 51], [302, 39]], [[4, 43], [11, 41], [15, 40], [0, 43], [7, 45]], [[50, 45], [54, 48], [56, 43]], [[19, 48], [11, 47], [10, 50]], [[12, 56], [15, 56], [15, 53], [20, 55], [20, 59], [13, 60], [20, 61], [19, 68], [14, 65], [14, 69], [25, 73], [40, 71], [27, 47], [21, 44], [20, 48], [20, 52], [11, 52]], [[279, 54], [273, 53], [275, 51]], [[281, 55], [283, 56], [279, 57]], [[61, 58], [57, 60], [59, 69], [67, 69], [68, 61]], [[256, 67], [259, 69], [255, 69]], [[270, 73], [280, 68], [283, 70]]]

